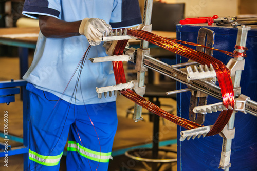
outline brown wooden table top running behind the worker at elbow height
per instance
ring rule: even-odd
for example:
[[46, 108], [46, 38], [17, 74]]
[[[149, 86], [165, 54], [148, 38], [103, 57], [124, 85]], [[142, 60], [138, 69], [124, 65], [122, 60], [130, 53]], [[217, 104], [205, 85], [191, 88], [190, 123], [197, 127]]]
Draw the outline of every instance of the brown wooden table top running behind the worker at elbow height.
[[[40, 29], [38, 27], [36, 28], [0, 28], [0, 39], [36, 44], [36, 41], [38, 40], [38, 36], [36, 36], [36, 34], [39, 33], [39, 30]], [[176, 32], [153, 30], [152, 33], [163, 37], [176, 38]], [[11, 37], [11, 35], [13, 35], [13, 37]], [[131, 44], [139, 44], [140, 40], [131, 39], [129, 42]]]

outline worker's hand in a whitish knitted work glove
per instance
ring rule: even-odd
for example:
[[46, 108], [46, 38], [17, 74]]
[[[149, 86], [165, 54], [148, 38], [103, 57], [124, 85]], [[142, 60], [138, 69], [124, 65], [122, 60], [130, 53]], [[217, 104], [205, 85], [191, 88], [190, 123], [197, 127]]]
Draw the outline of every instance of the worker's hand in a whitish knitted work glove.
[[101, 43], [103, 32], [111, 29], [111, 25], [107, 24], [103, 19], [85, 18], [80, 24], [79, 33], [86, 36], [90, 45], [95, 46]]

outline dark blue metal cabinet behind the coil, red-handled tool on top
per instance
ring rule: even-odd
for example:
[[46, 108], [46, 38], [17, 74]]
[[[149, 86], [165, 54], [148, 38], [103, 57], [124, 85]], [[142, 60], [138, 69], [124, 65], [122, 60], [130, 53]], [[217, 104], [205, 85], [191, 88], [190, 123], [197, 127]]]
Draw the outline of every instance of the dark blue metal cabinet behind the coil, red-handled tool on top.
[[[189, 42], [197, 41], [198, 30], [206, 27], [215, 32], [214, 48], [233, 52], [236, 44], [237, 29], [232, 27], [206, 26], [206, 25], [177, 25], [177, 39]], [[245, 58], [245, 69], [242, 72], [240, 86], [241, 94], [257, 101], [257, 27], [251, 27], [248, 31], [247, 57]], [[192, 47], [195, 49], [195, 47]], [[230, 56], [220, 52], [213, 53], [213, 56], [227, 64]], [[188, 59], [177, 56], [177, 63], [187, 62]], [[177, 89], [187, 88], [184, 84], [178, 83]], [[208, 96], [207, 104], [220, 102]], [[189, 119], [190, 92], [177, 95], [177, 115]], [[206, 115], [204, 125], [212, 125], [219, 113]], [[235, 138], [232, 140], [231, 159], [232, 164], [229, 170], [251, 171], [257, 170], [257, 117], [236, 113], [235, 116]], [[180, 132], [185, 129], [177, 127], [177, 168], [178, 170], [222, 170], [219, 169], [223, 138], [219, 135], [201, 137], [189, 141], [179, 141]]]

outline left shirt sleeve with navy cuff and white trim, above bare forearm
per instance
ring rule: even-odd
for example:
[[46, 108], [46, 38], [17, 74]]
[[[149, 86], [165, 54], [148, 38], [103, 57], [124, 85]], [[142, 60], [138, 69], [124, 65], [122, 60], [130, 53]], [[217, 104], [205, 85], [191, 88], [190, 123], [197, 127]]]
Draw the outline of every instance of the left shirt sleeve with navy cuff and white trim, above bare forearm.
[[22, 14], [30, 18], [38, 18], [39, 15], [58, 18], [60, 12], [60, 0], [25, 0]]

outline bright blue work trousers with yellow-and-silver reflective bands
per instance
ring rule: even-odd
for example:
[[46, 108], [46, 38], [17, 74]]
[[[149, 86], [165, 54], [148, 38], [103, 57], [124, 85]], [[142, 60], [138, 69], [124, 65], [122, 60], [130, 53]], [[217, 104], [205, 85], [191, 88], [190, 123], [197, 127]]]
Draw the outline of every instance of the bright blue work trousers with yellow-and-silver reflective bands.
[[30, 83], [27, 89], [28, 170], [59, 170], [67, 137], [67, 170], [107, 170], [118, 123], [115, 102], [74, 105]]

